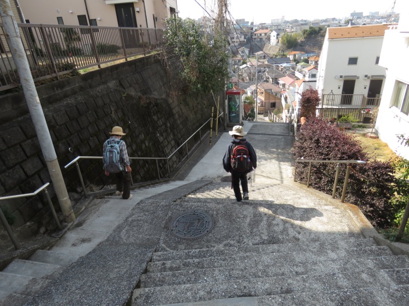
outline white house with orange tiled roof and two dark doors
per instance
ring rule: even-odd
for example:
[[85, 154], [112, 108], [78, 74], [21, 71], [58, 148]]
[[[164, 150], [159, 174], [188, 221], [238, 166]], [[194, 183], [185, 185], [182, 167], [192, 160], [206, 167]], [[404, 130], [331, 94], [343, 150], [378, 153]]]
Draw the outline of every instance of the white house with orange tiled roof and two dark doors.
[[388, 24], [328, 28], [320, 56], [316, 89], [324, 117], [353, 113], [379, 105], [385, 68], [378, 65]]

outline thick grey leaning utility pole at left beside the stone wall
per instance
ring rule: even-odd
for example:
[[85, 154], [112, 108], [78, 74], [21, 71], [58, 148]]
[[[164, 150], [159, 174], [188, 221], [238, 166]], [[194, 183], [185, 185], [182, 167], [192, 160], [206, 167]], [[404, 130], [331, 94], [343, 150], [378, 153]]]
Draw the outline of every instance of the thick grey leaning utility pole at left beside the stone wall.
[[53, 141], [51, 140], [46, 118], [44, 117], [41, 108], [37, 89], [34, 85], [30, 66], [27, 61], [27, 55], [21, 42], [17, 22], [11, 10], [10, 0], [0, 0], [0, 15], [3, 19], [5, 36], [9, 43], [10, 52], [13, 56], [14, 64], [21, 80], [22, 90], [26, 97], [34, 129], [40, 143], [44, 161], [46, 161], [47, 168], [50, 172], [51, 181], [55, 193], [57, 194], [62, 214], [66, 222], [73, 222], [75, 221], [75, 215], [62, 177], [61, 168], [58, 164], [57, 155]]

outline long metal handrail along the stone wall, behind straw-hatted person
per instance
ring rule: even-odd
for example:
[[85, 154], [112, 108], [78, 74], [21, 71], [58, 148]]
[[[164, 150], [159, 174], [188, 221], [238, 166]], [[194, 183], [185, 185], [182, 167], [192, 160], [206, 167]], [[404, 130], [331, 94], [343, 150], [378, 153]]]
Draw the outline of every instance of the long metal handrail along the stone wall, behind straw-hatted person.
[[[201, 129], [203, 126], [205, 126], [209, 121], [211, 120], [218, 120], [220, 116], [223, 115], [223, 112], [221, 114], [219, 114], [216, 118], [210, 118], [209, 120], [207, 120], [205, 123], [203, 123], [199, 129], [194, 132], [184, 143], [182, 143], [171, 155], [169, 155], [168, 157], [129, 157], [129, 159], [135, 159], [135, 160], [155, 160], [156, 161], [156, 169], [157, 169], [157, 175], [158, 175], [158, 179], [161, 179], [161, 172], [159, 169], [159, 164], [158, 164], [158, 160], [166, 160], [166, 164], [167, 164], [167, 168], [168, 168], [168, 176], [170, 178], [170, 166], [169, 166], [169, 159], [172, 158], [173, 155], [175, 155], [175, 153], [182, 148], [183, 146], [185, 146], [186, 144], [186, 156], [189, 157], [189, 148], [188, 148], [188, 141], [196, 135], [197, 132], [199, 132], [199, 139], [200, 139], [200, 143], [202, 140], [201, 137]], [[78, 164], [78, 161], [80, 159], [102, 159], [102, 156], [77, 156], [75, 159], [73, 159], [70, 163], [66, 164], [64, 166], [65, 169], [69, 168], [70, 166], [72, 166], [73, 164], [75, 164], [75, 167], [77, 169], [78, 172], [78, 176], [81, 182], [81, 186], [82, 186], [82, 192], [84, 193], [85, 197], [88, 197], [88, 194], [86, 192], [86, 188], [85, 188], [85, 184], [84, 184], [84, 180], [82, 178], [82, 173], [81, 173], [81, 169], [80, 166]]]

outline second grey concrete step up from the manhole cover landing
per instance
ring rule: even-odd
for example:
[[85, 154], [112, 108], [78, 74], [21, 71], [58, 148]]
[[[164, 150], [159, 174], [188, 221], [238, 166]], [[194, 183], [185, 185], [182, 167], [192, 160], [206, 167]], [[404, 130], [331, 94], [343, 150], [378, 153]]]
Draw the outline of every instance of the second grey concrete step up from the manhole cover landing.
[[340, 260], [353, 258], [370, 258], [379, 256], [391, 256], [392, 251], [387, 246], [370, 246], [349, 249], [327, 250], [322, 249], [319, 252], [311, 253], [308, 251], [291, 252], [291, 253], [259, 253], [252, 256], [251, 254], [233, 254], [230, 257], [203, 258], [192, 260], [174, 260], [166, 262], [150, 262], [147, 266], [149, 273], [170, 272], [189, 269], [206, 269], [232, 267], [237, 262], [245, 265], [255, 264], [275, 264], [280, 265], [282, 262], [302, 263], [308, 258], [309, 261], [320, 260]]

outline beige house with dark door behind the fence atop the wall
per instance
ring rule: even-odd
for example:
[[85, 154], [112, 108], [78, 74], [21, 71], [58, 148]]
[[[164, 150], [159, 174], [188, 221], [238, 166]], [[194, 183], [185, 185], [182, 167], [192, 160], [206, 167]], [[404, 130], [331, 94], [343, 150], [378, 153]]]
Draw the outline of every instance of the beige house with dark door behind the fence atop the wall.
[[30, 23], [165, 28], [176, 0], [18, 0]]

